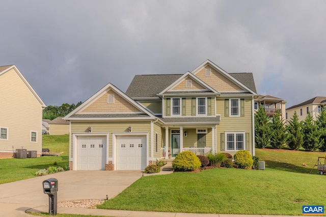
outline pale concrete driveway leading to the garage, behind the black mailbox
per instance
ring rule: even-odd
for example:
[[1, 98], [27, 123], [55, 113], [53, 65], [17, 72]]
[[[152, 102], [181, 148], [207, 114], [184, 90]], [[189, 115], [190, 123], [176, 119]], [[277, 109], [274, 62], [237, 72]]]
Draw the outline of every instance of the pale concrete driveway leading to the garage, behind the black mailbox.
[[58, 202], [112, 198], [143, 175], [140, 170], [66, 171], [0, 184], [0, 216], [31, 216], [25, 210], [48, 205], [42, 182], [58, 179]]

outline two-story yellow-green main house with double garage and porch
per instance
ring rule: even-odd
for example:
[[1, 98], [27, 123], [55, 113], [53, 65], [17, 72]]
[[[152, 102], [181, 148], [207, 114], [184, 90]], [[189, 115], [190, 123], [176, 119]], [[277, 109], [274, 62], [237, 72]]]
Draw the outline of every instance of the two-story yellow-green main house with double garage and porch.
[[135, 75], [124, 93], [108, 83], [64, 119], [71, 170], [143, 170], [181, 151], [255, 155], [252, 73], [206, 60], [184, 74]]

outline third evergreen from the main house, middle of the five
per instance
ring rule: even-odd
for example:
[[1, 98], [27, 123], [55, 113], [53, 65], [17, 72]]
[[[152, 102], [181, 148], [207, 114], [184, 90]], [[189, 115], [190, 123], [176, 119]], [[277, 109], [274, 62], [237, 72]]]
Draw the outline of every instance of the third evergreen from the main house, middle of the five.
[[302, 122], [299, 122], [296, 111], [294, 111], [293, 116], [288, 121], [286, 129], [289, 135], [287, 145], [293, 150], [298, 150], [304, 143], [304, 134]]

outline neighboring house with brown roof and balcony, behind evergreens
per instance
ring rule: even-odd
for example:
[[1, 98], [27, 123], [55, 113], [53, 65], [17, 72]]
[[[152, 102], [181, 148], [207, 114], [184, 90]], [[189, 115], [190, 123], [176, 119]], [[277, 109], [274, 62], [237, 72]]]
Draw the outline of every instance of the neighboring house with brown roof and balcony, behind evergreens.
[[259, 95], [255, 99], [255, 111], [259, 109], [260, 106], [264, 108], [264, 111], [269, 117], [273, 117], [277, 110], [280, 111], [281, 118], [285, 120], [285, 104], [287, 102], [284, 99], [273, 97], [273, 96], [263, 96]]

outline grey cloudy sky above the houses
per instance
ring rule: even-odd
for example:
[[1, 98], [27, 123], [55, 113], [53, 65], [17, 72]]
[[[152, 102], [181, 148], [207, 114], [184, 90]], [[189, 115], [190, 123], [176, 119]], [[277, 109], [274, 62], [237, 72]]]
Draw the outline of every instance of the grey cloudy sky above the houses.
[[46, 105], [85, 101], [137, 74], [183, 74], [206, 59], [252, 72], [287, 107], [326, 97], [326, 1], [0, 2], [0, 65]]

